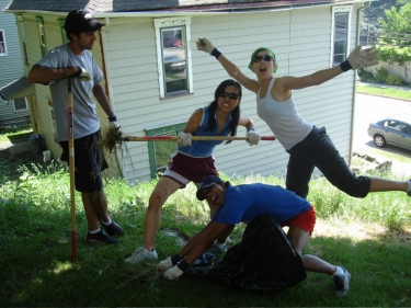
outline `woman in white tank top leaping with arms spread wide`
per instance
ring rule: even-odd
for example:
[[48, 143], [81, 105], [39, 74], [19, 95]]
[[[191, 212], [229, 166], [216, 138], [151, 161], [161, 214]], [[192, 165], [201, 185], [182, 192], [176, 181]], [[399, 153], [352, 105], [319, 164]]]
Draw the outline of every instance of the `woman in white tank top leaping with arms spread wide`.
[[369, 192], [402, 191], [411, 196], [411, 180], [391, 181], [380, 178], [356, 176], [340, 156], [326, 128], [307, 123], [297, 112], [292, 90], [321, 84], [347, 70], [378, 64], [375, 48], [357, 46], [340, 66], [319, 70], [304, 77], [274, 77], [277, 62], [274, 53], [260, 47], [251, 55], [249, 68], [256, 79], [250, 79], [230, 62], [207, 39], [197, 41], [197, 49], [216, 57], [229, 76], [256, 93], [258, 114], [270, 126], [289, 153], [286, 187], [306, 198], [312, 171], [317, 167], [331, 184], [354, 197]]

